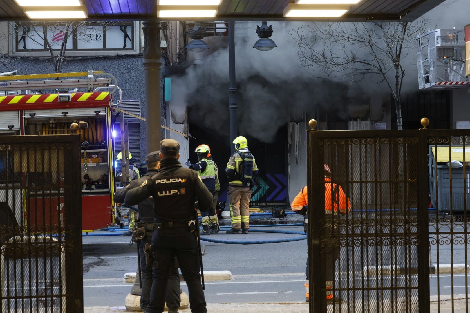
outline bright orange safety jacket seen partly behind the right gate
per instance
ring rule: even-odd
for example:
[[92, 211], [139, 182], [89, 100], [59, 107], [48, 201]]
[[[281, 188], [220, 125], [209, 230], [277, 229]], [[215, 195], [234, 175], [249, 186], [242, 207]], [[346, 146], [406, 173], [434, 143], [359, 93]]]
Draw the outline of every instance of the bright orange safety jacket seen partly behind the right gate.
[[[325, 182], [331, 182], [331, 179], [325, 177]], [[292, 201], [292, 204], [290, 205], [292, 211], [301, 215], [305, 215], [307, 213], [307, 194], [307, 186], [305, 186], [294, 198], [294, 201]], [[336, 183], [325, 183], [326, 214], [331, 214], [332, 210], [335, 212], [339, 211], [339, 213], [343, 214], [349, 213], [351, 212], [351, 202], [349, 201], [349, 198], [346, 197], [346, 194], [340, 185], [337, 185]]]

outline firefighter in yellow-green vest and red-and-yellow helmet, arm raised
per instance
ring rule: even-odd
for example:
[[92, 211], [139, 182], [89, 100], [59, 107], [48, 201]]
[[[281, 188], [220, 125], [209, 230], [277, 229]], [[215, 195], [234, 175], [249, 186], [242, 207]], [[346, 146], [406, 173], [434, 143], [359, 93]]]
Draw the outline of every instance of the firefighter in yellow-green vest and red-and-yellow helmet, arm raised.
[[217, 165], [212, 160], [211, 148], [208, 145], [198, 145], [194, 152], [197, 153], [196, 164], [191, 164], [189, 160], [186, 160], [186, 166], [188, 168], [194, 169], [197, 171], [201, 179], [203, 180], [204, 185], [211, 191], [214, 196], [215, 201], [212, 202], [212, 207], [207, 212], [201, 212], [203, 230], [201, 235], [217, 235], [219, 233], [219, 221], [217, 219], [217, 213], [215, 213], [217, 205], [217, 198], [219, 197], [219, 174], [217, 170]]

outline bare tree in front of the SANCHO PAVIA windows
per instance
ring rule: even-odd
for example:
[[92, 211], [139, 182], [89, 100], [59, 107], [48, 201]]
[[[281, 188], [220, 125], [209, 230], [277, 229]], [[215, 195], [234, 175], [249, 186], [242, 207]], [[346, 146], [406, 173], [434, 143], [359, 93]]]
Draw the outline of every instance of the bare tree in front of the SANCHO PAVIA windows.
[[54, 66], [56, 73], [60, 73], [65, 62], [67, 49], [69, 49], [74, 36], [88, 38], [100, 36], [100, 34], [102, 36], [104, 26], [105, 23], [90, 25], [86, 22], [17, 23], [9, 35], [18, 40], [18, 47], [23, 42], [24, 51], [28, 51], [26, 39], [31, 40], [37, 46], [43, 47], [50, 55], [47, 63]]

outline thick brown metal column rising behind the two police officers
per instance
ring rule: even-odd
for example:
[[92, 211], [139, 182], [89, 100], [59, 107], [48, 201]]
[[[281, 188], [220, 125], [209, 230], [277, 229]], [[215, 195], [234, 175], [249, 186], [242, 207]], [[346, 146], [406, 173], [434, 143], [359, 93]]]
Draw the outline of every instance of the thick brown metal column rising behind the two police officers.
[[160, 22], [143, 22], [144, 32], [144, 61], [145, 72], [145, 123], [146, 153], [159, 149], [162, 140], [161, 128], [161, 95], [160, 95], [160, 69], [162, 66], [161, 51], [159, 48]]

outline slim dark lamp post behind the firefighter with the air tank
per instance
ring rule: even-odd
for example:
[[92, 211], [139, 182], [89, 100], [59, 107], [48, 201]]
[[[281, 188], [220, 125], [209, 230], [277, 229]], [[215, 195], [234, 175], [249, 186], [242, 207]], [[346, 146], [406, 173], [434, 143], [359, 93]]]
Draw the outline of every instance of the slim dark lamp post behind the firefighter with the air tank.
[[228, 69], [230, 76], [230, 86], [228, 87], [228, 112], [230, 114], [230, 146], [231, 153], [235, 152], [235, 146], [232, 145], [237, 136], [237, 117], [236, 117], [236, 84], [235, 84], [235, 31], [234, 22], [228, 22]]

